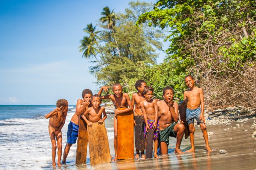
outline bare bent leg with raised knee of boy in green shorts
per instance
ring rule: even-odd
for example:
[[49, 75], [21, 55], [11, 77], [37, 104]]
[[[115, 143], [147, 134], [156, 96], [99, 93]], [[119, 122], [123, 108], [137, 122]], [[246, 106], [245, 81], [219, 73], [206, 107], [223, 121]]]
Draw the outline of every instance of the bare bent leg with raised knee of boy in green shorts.
[[176, 133], [176, 147], [175, 147], [175, 153], [176, 154], [184, 154], [184, 152], [181, 151], [180, 147], [181, 147], [181, 141], [184, 135], [184, 130], [185, 127], [183, 124], [181, 123], [177, 123], [174, 126], [174, 132]]

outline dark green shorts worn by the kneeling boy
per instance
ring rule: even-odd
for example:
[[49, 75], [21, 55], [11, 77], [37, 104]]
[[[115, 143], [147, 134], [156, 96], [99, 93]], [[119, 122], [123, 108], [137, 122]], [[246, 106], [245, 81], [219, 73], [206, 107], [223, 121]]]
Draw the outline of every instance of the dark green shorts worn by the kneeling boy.
[[170, 126], [160, 131], [160, 137], [158, 138], [158, 143], [160, 144], [162, 141], [169, 145], [169, 136], [176, 138], [177, 133], [174, 132], [174, 126], [177, 123], [172, 123]]

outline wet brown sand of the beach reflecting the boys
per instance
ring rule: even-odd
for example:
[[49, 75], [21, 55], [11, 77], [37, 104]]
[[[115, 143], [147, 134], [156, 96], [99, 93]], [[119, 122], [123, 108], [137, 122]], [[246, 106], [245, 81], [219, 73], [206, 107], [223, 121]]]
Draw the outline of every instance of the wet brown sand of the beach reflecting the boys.
[[[151, 170], [151, 169], [172, 169], [172, 170], [256, 170], [256, 138], [252, 137], [256, 126], [251, 128], [256, 119], [250, 118], [246, 123], [231, 122], [231, 125], [208, 125], [210, 147], [214, 149], [207, 152], [205, 142], [199, 125], [195, 127], [195, 148], [194, 153], [182, 155], [174, 154], [176, 139], [169, 138], [170, 144], [168, 154], [158, 159], [147, 160], [119, 160], [109, 164], [90, 166], [89, 159], [86, 165], [75, 166], [75, 157], [70, 157], [66, 166], [63, 167], [42, 167], [43, 169], [62, 169], [62, 170]], [[240, 126], [236, 126], [239, 124]], [[245, 130], [247, 130], [245, 132]], [[113, 141], [109, 141], [111, 154], [113, 155]], [[189, 138], [183, 139], [181, 150], [186, 151], [190, 148]], [[220, 150], [228, 153], [220, 154]], [[89, 152], [88, 152], [89, 154]], [[50, 163], [50, 162], [49, 162]]]

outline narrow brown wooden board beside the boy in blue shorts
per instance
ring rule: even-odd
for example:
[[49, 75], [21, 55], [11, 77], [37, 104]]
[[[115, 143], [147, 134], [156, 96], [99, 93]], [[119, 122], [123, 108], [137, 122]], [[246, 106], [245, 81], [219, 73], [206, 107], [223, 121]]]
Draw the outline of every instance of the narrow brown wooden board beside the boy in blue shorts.
[[76, 157], [75, 164], [86, 164], [86, 156], [87, 156], [87, 144], [88, 144], [88, 134], [87, 134], [87, 126], [84, 119], [80, 119], [79, 121], [79, 131], [78, 131], [78, 141], [76, 147]]

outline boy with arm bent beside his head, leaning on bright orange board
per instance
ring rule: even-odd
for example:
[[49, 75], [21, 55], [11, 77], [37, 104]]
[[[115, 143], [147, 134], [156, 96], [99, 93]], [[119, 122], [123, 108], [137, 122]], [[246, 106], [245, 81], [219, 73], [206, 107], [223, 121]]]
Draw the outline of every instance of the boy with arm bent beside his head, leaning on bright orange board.
[[[102, 90], [105, 92], [108, 92], [108, 88], [106, 86], [103, 86], [99, 91], [98, 95], [102, 94]], [[122, 93], [123, 88], [121, 84], [115, 83], [113, 84], [113, 93], [114, 94], [108, 94], [105, 96], [102, 96], [102, 99], [111, 99], [113, 102], [113, 105], [115, 106], [115, 116], [114, 116], [114, 148], [115, 148], [115, 158], [114, 160], [117, 160], [117, 118], [116, 116], [121, 113], [129, 112], [133, 109], [130, 97], [128, 93]], [[129, 106], [129, 108], [128, 108]], [[118, 110], [117, 108], [127, 108], [124, 110]]]

